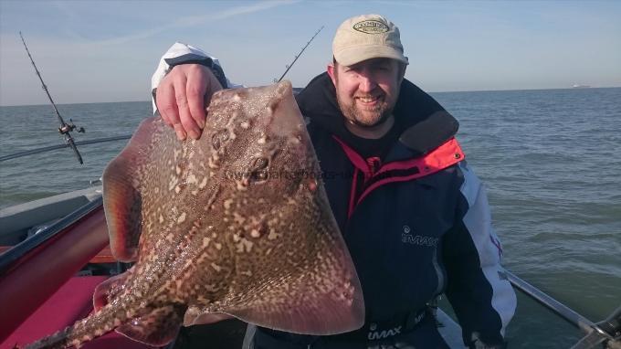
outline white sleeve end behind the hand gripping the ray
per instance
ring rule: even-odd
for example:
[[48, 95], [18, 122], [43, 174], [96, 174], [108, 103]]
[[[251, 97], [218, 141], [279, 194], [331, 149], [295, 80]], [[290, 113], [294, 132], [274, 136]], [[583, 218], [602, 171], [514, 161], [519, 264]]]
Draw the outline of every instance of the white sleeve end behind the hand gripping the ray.
[[[210, 54], [206, 53], [202, 49], [195, 48], [191, 45], [182, 44], [180, 42], [175, 42], [171, 48], [168, 48], [168, 51], [164, 53], [162, 58], [160, 58], [160, 64], [157, 66], [157, 69], [155, 69], [155, 72], [153, 73], [153, 77], [151, 78], [151, 90], [152, 91], [157, 89], [163, 77], [165, 77], [166, 74], [168, 74], [168, 72], [170, 71], [171, 64], [169, 64], [169, 61], [174, 58], [182, 58], [182, 57], [186, 57], [187, 59], [185, 60], [194, 60], [197, 58], [211, 58], [214, 64], [219, 66], [220, 69], [224, 70], [224, 68], [222, 67], [222, 64], [220, 64], [220, 61], [217, 58], [215, 58], [214, 56], [211, 56]], [[229, 79], [226, 79], [226, 85], [227, 86], [225, 86], [225, 88], [228, 88], [228, 89], [237, 89], [237, 88], [243, 87], [243, 85], [233, 83]], [[154, 95], [152, 97], [152, 102], [153, 102], [153, 113], [155, 113], [155, 111], [157, 111], [157, 106], [155, 105]]]

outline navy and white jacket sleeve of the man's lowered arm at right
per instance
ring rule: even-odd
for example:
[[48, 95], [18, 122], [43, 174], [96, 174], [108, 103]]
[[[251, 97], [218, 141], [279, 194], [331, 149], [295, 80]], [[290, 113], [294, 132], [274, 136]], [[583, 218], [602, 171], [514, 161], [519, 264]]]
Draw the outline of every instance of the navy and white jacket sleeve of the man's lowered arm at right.
[[443, 244], [446, 294], [468, 347], [502, 348], [505, 329], [515, 312], [515, 292], [500, 266], [502, 248], [491, 227], [485, 188], [465, 162], [458, 170], [463, 182], [457, 224]]

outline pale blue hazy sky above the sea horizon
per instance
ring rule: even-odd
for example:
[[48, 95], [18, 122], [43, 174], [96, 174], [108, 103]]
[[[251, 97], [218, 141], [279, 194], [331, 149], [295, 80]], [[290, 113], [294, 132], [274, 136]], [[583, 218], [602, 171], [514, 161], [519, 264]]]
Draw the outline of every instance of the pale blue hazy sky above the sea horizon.
[[149, 100], [175, 41], [202, 48], [247, 86], [303, 87], [332, 59], [348, 17], [388, 17], [405, 78], [427, 91], [621, 86], [621, 1], [0, 0], [0, 105], [46, 104], [19, 31], [58, 104]]

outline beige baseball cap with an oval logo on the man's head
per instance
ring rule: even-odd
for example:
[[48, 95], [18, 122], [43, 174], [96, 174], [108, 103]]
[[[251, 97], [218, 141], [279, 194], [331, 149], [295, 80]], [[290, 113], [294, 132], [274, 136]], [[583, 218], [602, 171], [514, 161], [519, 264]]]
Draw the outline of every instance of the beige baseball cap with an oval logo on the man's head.
[[399, 28], [380, 15], [355, 16], [342, 22], [332, 41], [332, 54], [344, 66], [371, 58], [393, 58], [408, 64]]

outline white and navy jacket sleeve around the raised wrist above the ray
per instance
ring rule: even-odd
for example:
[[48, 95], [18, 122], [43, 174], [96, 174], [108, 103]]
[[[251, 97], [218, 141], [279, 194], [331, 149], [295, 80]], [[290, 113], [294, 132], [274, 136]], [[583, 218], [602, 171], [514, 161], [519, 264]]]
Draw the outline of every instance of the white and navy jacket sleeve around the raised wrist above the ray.
[[200, 48], [175, 42], [174, 45], [171, 46], [171, 48], [168, 48], [168, 51], [163, 54], [162, 58], [160, 58], [160, 63], [151, 77], [153, 113], [157, 111], [157, 107], [155, 105], [155, 90], [160, 85], [163, 77], [165, 77], [174, 66], [187, 63], [205, 64], [213, 67], [212, 70], [214, 71], [216, 78], [220, 80], [220, 83], [225, 88], [235, 89], [242, 87], [242, 85], [238, 85], [231, 82], [229, 79], [226, 79], [222, 64], [220, 64], [220, 61], [217, 58], [205, 53], [205, 51]]

